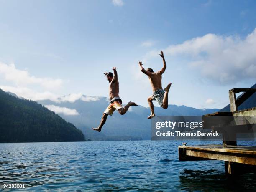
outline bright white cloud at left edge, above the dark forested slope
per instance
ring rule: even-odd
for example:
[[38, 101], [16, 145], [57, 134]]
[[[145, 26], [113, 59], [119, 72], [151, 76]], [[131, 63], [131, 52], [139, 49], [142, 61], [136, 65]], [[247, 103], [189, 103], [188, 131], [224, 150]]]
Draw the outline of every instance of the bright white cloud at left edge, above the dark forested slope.
[[17, 69], [14, 64], [0, 63], [0, 75], [3, 75], [5, 80], [11, 81], [17, 86], [36, 84], [44, 88], [57, 88], [62, 85], [61, 79], [37, 78], [31, 76], [26, 70]]

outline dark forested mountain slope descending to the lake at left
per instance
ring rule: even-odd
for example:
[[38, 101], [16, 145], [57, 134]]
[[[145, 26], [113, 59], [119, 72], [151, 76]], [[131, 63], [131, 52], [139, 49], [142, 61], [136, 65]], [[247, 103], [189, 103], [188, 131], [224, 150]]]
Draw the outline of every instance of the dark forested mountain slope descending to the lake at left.
[[35, 101], [0, 89], [0, 142], [84, 141], [81, 130]]

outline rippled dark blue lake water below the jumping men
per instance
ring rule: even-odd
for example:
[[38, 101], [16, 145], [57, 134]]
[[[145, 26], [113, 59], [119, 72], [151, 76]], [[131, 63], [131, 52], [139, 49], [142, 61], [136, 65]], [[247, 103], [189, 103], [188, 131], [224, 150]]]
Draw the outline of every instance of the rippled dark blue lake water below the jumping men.
[[[179, 162], [177, 147], [181, 143], [3, 143], [0, 144], [0, 191], [4, 191], [3, 183], [26, 184], [26, 191], [256, 190], [256, 174], [226, 175], [224, 162]], [[188, 141], [188, 145], [195, 144], [206, 143]], [[255, 142], [238, 144], [256, 145]]]

